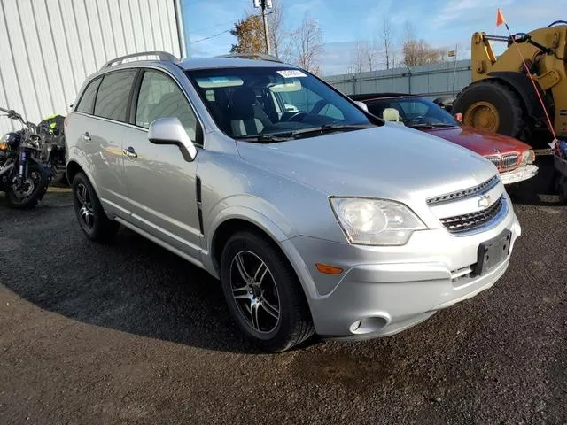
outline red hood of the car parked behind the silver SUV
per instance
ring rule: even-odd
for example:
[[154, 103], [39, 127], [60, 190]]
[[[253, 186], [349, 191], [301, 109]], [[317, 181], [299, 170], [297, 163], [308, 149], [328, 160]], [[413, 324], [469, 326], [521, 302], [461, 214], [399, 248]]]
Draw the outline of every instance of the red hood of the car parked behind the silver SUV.
[[493, 155], [494, 153], [521, 153], [526, 149], [531, 149], [526, 143], [508, 135], [499, 135], [472, 127], [427, 128], [423, 131], [483, 156]]

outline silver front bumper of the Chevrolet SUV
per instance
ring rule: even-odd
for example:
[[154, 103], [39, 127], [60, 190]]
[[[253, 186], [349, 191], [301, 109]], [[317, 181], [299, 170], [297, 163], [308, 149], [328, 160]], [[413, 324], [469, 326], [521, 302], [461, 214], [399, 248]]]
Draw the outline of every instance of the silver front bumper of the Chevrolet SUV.
[[[509, 202], [509, 200], [507, 200]], [[510, 250], [521, 234], [511, 205], [508, 215], [485, 232], [453, 236], [445, 229], [414, 233], [400, 247], [334, 243], [307, 236], [283, 241], [307, 294], [319, 335], [340, 339], [388, 336], [424, 321], [449, 305], [493, 286], [509, 256], [487, 274], [471, 277], [478, 245], [505, 229]], [[342, 267], [338, 276], [321, 274], [315, 263]]]

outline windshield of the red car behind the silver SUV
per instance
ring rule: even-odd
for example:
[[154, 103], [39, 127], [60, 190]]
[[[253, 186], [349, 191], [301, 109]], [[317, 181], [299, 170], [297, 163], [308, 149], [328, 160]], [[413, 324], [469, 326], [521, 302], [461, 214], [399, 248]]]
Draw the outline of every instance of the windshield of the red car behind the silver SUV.
[[[399, 114], [400, 121], [408, 127], [454, 127], [459, 123], [453, 116], [423, 97], [387, 97], [371, 100], [368, 103], [369, 112], [377, 117], [392, 120], [390, 117]], [[395, 109], [398, 113], [391, 113]], [[390, 110], [390, 111], [389, 111]]]

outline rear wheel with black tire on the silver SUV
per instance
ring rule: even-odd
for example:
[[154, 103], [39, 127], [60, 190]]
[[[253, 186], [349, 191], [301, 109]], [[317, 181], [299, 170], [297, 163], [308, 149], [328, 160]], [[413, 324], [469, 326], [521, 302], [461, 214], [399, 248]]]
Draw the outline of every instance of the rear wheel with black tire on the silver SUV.
[[111, 242], [118, 233], [119, 223], [110, 220], [84, 173], [77, 173], [73, 179], [74, 212], [83, 233], [95, 242]]

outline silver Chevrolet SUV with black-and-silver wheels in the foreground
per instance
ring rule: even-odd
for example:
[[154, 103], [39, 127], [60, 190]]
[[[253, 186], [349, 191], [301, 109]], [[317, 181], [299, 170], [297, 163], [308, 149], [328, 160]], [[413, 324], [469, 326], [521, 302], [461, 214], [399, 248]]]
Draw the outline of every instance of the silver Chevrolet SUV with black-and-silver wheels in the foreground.
[[295, 66], [153, 53], [90, 76], [66, 119], [79, 224], [206, 269], [260, 348], [392, 335], [506, 271], [520, 226], [484, 158]]

